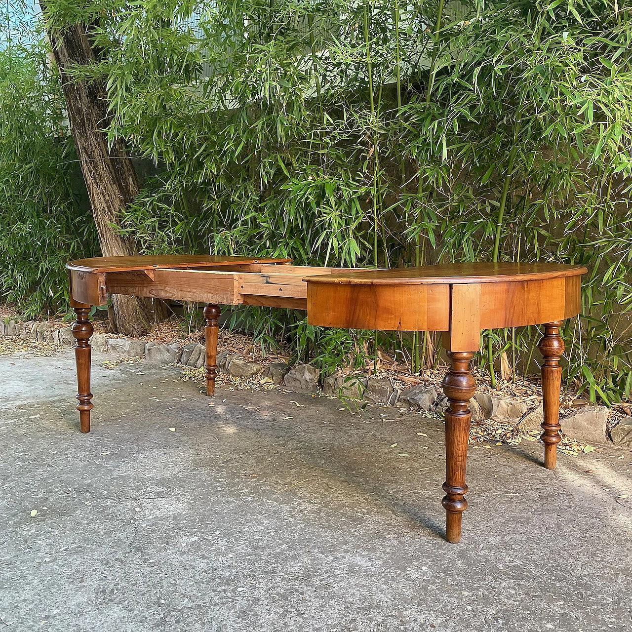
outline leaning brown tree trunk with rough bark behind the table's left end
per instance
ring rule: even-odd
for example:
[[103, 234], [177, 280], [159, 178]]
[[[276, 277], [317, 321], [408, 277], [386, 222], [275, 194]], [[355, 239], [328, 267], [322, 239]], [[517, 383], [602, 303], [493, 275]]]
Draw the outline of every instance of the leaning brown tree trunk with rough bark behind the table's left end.
[[[46, 16], [46, 2], [40, 1], [40, 6]], [[69, 25], [63, 31], [47, 28], [47, 32], [61, 76], [70, 130], [90, 197], [101, 253], [105, 257], [135, 255], [134, 240], [112, 228], [118, 226], [121, 210], [138, 195], [140, 188], [123, 139], [118, 138], [108, 147], [104, 130], [111, 121], [111, 114], [106, 89], [100, 80], [75, 80], [68, 74], [73, 66], [95, 63], [97, 51], [82, 23]], [[112, 302], [111, 327], [126, 336], [145, 334], [152, 324], [167, 316], [163, 301], [113, 295]]]

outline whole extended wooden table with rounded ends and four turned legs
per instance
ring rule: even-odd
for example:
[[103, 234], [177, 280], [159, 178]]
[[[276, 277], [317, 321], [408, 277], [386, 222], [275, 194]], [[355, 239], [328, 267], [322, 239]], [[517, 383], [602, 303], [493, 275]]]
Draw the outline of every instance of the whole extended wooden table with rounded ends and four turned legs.
[[446, 264], [392, 270], [301, 267], [291, 260], [209, 255], [100, 257], [70, 262], [72, 332], [82, 432], [90, 432], [90, 319], [108, 294], [206, 303], [207, 394], [215, 393], [219, 305], [266, 305], [307, 310], [325, 327], [441, 331], [450, 367], [442, 382], [446, 421], [446, 537], [461, 539], [468, 506], [465, 464], [470, 398], [476, 390], [471, 360], [483, 329], [544, 324], [542, 395], [544, 466], [556, 466], [564, 342], [559, 328], [581, 310], [581, 265], [554, 263]]

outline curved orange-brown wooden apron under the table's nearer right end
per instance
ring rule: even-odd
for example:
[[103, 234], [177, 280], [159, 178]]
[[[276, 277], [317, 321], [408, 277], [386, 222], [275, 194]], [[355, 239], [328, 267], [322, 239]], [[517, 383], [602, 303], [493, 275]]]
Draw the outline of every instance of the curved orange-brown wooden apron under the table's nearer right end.
[[450, 331], [455, 337], [453, 348], [460, 351], [478, 349], [473, 339], [478, 340], [483, 329], [565, 320], [581, 311], [580, 276], [445, 285], [354, 285], [310, 279], [307, 284], [312, 325]]

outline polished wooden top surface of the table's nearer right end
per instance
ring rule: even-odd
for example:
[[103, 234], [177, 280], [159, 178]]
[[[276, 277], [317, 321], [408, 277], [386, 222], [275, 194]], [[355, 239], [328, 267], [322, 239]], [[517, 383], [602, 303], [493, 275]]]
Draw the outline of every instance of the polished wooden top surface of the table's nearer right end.
[[390, 270], [358, 270], [327, 275], [310, 276], [308, 283], [348, 285], [397, 284], [456, 284], [456, 283], [507, 283], [580, 276], [588, 270], [583, 265], [556, 263], [469, 263], [440, 264], [423, 267], [393, 268]]

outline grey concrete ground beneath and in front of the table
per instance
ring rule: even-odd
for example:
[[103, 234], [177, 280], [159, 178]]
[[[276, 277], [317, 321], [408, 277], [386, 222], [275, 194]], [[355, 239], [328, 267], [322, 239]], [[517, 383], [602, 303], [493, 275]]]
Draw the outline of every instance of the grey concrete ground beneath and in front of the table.
[[453, 545], [440, 422], [102, 359], [81, 435], [71, 351], [0, 357], [0, 631], [632, 629], [632, 453], [471, 447]]

